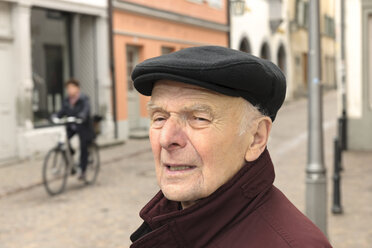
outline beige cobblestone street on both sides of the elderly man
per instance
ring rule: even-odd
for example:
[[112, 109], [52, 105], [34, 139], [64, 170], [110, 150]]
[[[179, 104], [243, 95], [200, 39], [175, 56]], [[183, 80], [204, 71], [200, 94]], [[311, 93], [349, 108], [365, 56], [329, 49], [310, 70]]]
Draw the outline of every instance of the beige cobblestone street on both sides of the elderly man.
[[[336, 248], [372, 247], [372, 154], [346, 152], [342, 174], [344, 214], [332, 215], [333, 137], [336, 93], [324, 97], [324, 146], [328, 177], [328, 237]], [[307, 100], [287, 102], [269, 142], [275, 185], [305, 209]], [[46, 194], [42, 160], [0, 167], [0, 248], [120, 248], [141, 224], [138, 212], [158, 191], [147, 139], [101, 150], [93, 186], [70, 177], [59, 196]]]

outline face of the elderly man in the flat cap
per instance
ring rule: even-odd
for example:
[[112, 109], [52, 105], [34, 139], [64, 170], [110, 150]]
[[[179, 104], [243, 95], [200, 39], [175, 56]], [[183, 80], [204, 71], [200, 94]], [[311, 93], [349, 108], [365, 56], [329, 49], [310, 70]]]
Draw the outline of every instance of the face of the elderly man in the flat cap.
[[150, 142], [158, 184], [184, 207], [226, 183], [244, 165], [252, 139], [240, 135], [242, 98], [161, 80], [152, 91]]

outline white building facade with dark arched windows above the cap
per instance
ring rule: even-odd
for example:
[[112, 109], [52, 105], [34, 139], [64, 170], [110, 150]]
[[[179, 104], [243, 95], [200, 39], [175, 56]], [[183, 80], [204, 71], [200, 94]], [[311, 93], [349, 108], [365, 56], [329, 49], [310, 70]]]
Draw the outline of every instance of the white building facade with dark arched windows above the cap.
[[231, 6], [231, 48], [277, 64], [287, 77], [287, 97], [292, 92], [287, 1], [245, 0], [243, 10]]

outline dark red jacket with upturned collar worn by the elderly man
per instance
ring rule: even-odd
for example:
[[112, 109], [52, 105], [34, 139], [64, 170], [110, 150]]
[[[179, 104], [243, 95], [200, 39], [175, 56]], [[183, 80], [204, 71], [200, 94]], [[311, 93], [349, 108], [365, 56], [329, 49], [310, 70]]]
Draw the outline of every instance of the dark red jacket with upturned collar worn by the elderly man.
[[230, 181], [180, 210], [161, 191], [141, 210], [131, 248], [323, 248], [323, 233], [275, 186], [266, 150]]

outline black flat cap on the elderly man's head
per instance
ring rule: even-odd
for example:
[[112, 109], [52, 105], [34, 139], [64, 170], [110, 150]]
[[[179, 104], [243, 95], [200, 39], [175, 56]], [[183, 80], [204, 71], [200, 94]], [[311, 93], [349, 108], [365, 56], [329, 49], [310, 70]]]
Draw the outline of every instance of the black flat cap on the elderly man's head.
[[156, 81], [170, 79], [242, 97], [273, 121], [286, 93], [285, 76], [276, 65], [218, 46], [192, 47], [145, 60], [135, 67], [132, 79], [146, 96], [151, 95]]

